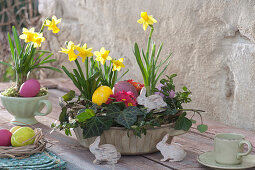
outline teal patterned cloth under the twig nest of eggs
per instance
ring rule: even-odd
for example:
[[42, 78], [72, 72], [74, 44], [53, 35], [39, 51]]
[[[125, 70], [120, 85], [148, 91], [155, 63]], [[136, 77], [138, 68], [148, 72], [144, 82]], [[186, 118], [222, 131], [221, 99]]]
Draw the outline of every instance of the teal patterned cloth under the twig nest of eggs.
[[52, 152], [45, 151], [42, 153], [31, 155], [24, 159], [1, 158], [0, 169], [9, 170], [34, 170], [34, 169], [65, 169], [66, 162], [60, 159]]

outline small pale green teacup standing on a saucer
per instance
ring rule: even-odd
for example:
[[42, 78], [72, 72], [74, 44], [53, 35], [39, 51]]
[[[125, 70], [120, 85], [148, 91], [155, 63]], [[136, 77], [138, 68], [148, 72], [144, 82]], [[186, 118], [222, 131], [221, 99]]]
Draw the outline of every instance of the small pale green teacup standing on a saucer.
[[[248, 146], [243, 152], [243, 146]], [[235, 133], [220, 133], [214, 139], [215, 161], [219, 164], [235, 165], [242, 162], [242, 156], [250, 154], [252, 145], [244, 140], [244, 136]]]

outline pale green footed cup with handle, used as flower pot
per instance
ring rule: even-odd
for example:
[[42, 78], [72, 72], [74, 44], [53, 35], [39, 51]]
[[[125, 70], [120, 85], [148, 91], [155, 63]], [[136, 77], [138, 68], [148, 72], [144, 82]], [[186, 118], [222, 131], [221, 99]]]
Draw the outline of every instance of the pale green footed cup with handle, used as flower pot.
[[[15, 125], [33, 125], [38, 123], [35, 116], [45, 116], [52, 110], [52, 104], [48, 100], [48, 95], [40, 97], [7, 97], [0, 94], [5, 109], [13, 115], [11, 120]], [[45, 113], [41, 113], [44, 107]]]

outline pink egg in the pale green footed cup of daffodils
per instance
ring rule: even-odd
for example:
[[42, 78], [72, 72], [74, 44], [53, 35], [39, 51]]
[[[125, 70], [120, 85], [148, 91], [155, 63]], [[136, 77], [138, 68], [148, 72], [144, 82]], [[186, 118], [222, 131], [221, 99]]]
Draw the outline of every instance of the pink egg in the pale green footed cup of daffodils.
[[30, 79], [21, 85], [19, 95], [22, 97], [34, 97], [39, 91], [40, 83], [35, 79]]

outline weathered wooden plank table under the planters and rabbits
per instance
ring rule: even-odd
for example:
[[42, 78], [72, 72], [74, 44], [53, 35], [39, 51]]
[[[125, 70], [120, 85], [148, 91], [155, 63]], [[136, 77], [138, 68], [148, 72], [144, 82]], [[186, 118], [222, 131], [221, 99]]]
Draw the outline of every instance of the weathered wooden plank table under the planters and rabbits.
[[[41, 84], [49, 88], [49, 100], [53, 104], [53, 110], [47, 116], [37, 117], [39, 123], [35, 127], [42, 128], [47, 140], [53, 144], [49, 150], [64, 159], [67, 162], [67, 169], [70, 170], [112, 169], [110, 165], [94, 165], [92, 163], [95, 159], [94, 155], [88, 149], [79, 145], [74, 133], [71, 137], [67, 137], [63, 132], [59, 131], [49, 134], [51, 123], [58, 119], [60, 113], [58, 97], [63, 96], [69, 89], [73, 89], [77, 93], [78, 91], [72, 85], [72, 82], [67, 79], [47, 79], [41, 81]], [[0, 83], [0, 91], [9, 87], [9, 85], [10, 83]], [[13, 126], [10, 123], [11, 119], [12, 116], [0, 104], [0, 128], [11, 128]], [[192, 127], [188, 133], [174, 138], [174, 142], [180, 143], [187, 152], [187, 156], [182, 162], [160, 162], [159, 160], [162, 156], [157, 152], [141, 156], [122, 156], [115, 169], [208, 169], [197, 162], [197, 156], [203, 152], [213, 150], [213, 138], [216, 133], [222, 132], [242, 133], [255, 146], [254, 132], [229, 127], [209, 120], [205, 121], [205, 123], [209, 126], [209, 130], [204, 134], [199, 133]]]

